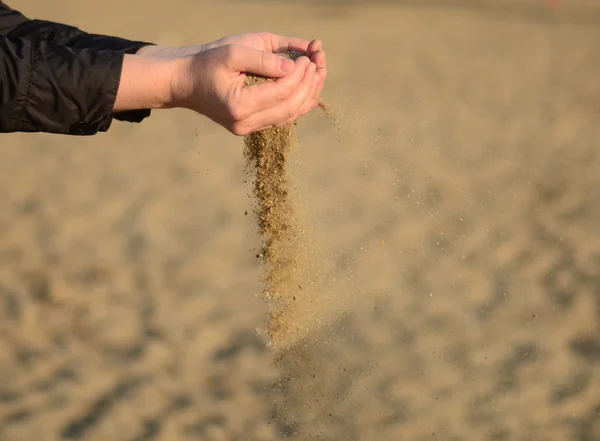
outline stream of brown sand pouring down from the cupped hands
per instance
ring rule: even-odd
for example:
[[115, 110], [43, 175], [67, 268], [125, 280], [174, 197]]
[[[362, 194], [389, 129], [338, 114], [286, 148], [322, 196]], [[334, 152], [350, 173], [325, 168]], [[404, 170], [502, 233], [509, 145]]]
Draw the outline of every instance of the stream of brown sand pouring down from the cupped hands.
[[[287, 53], [296, 59], [300, 53]], [[247, 76], [247, 84], [272, 79]], [[338, 130], [330, 108], [319, 107]], [[323, 370], [319, 352], [332, 348], [356, 289], [319, 246], [319, 228], [308, 222], [307, 208], [289, 170], [296, 144], [296, 123], [246, 136], [244, 156], [253, 183], [254, 211], [262, 248], [264, 297], [269, 302], [267, 333], [278, 378], [274, 384], [273, 424], [282, 436], [313, 439], [337, 402], [341, 371]], [[298, 180], [298, 182], [300, 182]], [[333, 340], [331, 340], [333, 338]], [[325, 345], [325, 346], [324, 346]]]

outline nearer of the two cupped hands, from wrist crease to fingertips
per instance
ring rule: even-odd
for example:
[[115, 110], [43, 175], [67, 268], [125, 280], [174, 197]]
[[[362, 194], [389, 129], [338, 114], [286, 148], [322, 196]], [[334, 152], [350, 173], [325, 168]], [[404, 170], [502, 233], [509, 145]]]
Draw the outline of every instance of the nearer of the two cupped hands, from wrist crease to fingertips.
[[[308, 57], [293, 62], [272, 51], [215, 44], [180, 60], [172, 105], [197, 111], [235, 135], [289, 124], [318, 104], [320, 76]], [[249, 86], [244, 72], [276, 81]]]

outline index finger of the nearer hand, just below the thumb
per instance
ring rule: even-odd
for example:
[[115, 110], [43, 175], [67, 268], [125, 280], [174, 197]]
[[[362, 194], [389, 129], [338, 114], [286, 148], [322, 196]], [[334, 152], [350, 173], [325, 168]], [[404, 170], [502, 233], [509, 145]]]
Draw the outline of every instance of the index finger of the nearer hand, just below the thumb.
[[274, 107], [290, 98], [290, 96], [300, 87], [307, 69], [313, 63], [306, 57], [300, 57], [296, 60], [296, 69], [287, 77], [280, 78], [277, 81], [265, 81], [259, 84], [244, 86], [242, 89], [241, 102], [253, 103], [255, 112]]

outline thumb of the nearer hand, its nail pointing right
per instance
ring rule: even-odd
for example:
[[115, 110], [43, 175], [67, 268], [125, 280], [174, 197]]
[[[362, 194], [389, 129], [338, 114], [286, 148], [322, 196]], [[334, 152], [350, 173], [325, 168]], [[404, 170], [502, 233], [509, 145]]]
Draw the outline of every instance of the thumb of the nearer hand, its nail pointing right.
[[281, 78], [296, 67], [289, 58], [271, 52], [234, 46], [231, 50], [229, 67], [239, 72], [247, 72], [269, 78]]

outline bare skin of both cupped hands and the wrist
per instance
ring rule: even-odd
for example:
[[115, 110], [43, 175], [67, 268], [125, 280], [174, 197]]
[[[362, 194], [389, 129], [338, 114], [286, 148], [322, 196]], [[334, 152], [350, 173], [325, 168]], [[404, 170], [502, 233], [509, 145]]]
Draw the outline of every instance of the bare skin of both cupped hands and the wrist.
[[[306, 56], [278, 55], [290, 50]], [[246, 72], [276, 81], [248, 86]], [[146, 46], [125, 55], [114, 111], [186, 108], [244, 136], [310, 112], [326, 77], [319, 40], [248, 33], [198, 46]]]

